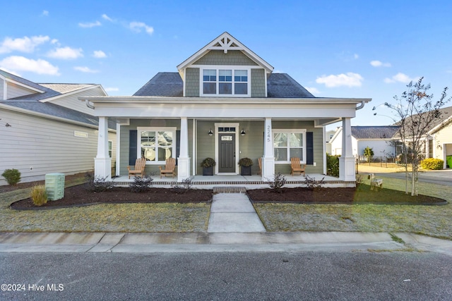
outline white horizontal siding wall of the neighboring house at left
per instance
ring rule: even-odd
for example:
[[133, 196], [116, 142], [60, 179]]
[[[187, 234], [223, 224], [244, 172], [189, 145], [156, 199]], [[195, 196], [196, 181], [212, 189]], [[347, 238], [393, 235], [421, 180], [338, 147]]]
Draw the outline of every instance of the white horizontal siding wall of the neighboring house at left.
[[[11, 124], [0, 130], [0, 171], [16, 168], [22, 182], [42, 180], [46, 173], [80, 173], [94, 169], [97, 130], [81, 125], [52, 121], [14, 111], [2, 110], [2, 121]], [[74, 131], [88, 137], [74, 137]], [[113, 140], [113, 161], [116, 138]], [[32, 167], [32, 171], [30, 171]], [[0, 185], [6, 181], [0, 176]]]

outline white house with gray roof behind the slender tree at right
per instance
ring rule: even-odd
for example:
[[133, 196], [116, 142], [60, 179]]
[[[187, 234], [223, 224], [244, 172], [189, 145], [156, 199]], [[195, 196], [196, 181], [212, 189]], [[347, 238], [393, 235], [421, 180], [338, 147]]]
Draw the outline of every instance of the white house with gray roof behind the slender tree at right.
[[[352, 153], [353, 156], [364, 155], [364, 149], [370, 147], [374, 151], [374, 157], [396, 156], [396, 145], [393, 136], [398, 126], [352, 126]], [[337, 128], [331, 138], [331, 154], [342, 154], [342, 127]]]

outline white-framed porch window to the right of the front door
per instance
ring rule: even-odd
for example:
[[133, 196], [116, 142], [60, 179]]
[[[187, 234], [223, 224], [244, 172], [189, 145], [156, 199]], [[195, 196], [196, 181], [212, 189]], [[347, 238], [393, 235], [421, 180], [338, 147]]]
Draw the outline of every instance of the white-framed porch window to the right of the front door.
[[306, 130], [273, 130], [275, 163], [290, 163], [297, 157], [306, 163]]

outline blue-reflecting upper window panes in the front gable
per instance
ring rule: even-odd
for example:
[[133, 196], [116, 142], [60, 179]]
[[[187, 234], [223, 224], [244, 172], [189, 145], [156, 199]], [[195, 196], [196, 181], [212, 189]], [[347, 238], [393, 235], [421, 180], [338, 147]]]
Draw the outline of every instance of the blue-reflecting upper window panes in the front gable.
[[249, 70], [203, 69], [203, 95], [249, 96]]

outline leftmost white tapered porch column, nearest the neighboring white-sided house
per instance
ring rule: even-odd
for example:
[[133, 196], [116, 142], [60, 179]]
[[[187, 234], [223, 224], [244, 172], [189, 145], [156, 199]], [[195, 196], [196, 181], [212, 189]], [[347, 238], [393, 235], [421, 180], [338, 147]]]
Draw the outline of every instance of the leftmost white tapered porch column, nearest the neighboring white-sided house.
[[112, 158], [108, 156], [108, 118], [99, 117], [97, 156], [94, 159], [94, 175], [112, 180]]

